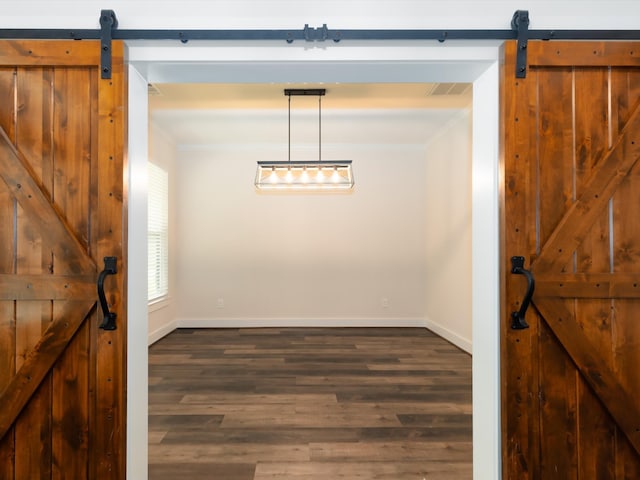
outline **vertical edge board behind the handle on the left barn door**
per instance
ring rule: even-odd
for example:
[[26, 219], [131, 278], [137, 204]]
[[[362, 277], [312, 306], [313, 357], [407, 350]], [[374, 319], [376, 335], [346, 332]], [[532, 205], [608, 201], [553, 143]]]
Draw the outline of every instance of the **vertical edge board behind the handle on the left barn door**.
[[[90, 437], [89, 457], [94, 462], [94, 478], [120, 480], [126, 470], [126, 278], [124, 246], [126, 232], [126, 198], [123, 183], [126, 144], [126, 70], [124, 42], [112, 44], [112, 78], [96, 80], [97, 87], [97, 176], [95, 201], [100, 212], [95, 223], [96, 258], [115, 256], [118, 274], [108, 285], [105, 295], [112, 312], [117, 314], [117, 329], [99, 330], [96, 335], [95, 415]], [[100, 315], [102, 317], [102, 315]]]

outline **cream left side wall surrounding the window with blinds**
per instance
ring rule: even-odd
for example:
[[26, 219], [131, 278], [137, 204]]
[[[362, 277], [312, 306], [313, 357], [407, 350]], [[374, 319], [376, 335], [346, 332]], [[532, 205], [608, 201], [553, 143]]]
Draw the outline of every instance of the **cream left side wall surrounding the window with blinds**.
[[[175, 224], [176, 202], [176, 147], [171, 134], [150, 124], [149, 161], [164, 169], [169, 177], [169, 224]], [[169, 272], [176, 270], [177, 258], [176, 229], [169, 230]], [[176, 282], [175, 275], [169, 275], [169, 294], [166, 299], [149, 306], [149, 344], [159, 340], [176, 328]]]

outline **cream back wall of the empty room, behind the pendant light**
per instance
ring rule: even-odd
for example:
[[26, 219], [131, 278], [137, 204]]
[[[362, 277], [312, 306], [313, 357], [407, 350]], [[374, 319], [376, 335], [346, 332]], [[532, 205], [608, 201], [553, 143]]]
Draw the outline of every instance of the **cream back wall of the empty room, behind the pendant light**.
[[[393, 112], [340, 115], [351, 125], [364, 123], [362, 116], [370, 126], [394, 118]], [[323, 117], [324, 125], [332, 123], [330, 112]], [[425, 145], [379, 137], [368, 144], [323, 143], [323, 158], [353, 160], [354, 190], [284, 195], [257, 193], [253, 177], [257, 159], [286, 159], [286, 144], [256, 148], [247, 136], [244, 147], [178, 150], [178, 325], [424, 326], [431, 274], [426, 178], [437, 161], [427, 158]], [[313, 159], [316, 149], [294, 145], [292, 158]], [[470, 152], [462, 153], [460, 163], [469, 169]], [[464, 208], [469, 227], [470, 205]], [[464, 261], [468, 270], [468, 254]], [[460, 293], [470, 303], [470, 291]], [[459, 336], [468, 338], [470, 312], [464, 321]]]

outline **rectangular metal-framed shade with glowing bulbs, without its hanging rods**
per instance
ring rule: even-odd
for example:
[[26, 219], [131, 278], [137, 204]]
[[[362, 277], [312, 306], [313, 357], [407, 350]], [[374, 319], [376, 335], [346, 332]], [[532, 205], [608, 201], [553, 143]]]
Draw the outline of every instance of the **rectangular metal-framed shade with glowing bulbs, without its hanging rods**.
[[349, 190], [351, 160], [258, 162], [255, 184], [260, 190]]

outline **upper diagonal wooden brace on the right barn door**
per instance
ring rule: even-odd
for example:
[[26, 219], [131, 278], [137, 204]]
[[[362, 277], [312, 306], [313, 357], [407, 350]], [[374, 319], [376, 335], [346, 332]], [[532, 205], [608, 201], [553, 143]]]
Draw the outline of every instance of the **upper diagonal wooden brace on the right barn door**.
[[532, 269], [559, 271], [572, 258], [589, 229], [602, 215], [622, 181], [640, 158], [640, 101], [613, 147], [597, 162], [582, 194], [571, 204], [544, 244]]

